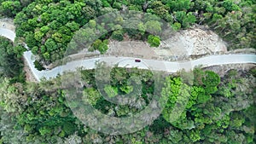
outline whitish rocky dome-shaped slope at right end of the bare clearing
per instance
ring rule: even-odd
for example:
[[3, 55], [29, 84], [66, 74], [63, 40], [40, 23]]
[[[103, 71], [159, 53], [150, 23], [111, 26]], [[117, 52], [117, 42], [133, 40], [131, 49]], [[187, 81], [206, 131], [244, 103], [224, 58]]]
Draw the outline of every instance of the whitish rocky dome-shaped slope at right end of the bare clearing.
[[177, 32], [163, 41], [161, 49], [155, 49], [160, 55], [216, 55], [227, 52], [226, 43], [212, 31], [193, 27]]

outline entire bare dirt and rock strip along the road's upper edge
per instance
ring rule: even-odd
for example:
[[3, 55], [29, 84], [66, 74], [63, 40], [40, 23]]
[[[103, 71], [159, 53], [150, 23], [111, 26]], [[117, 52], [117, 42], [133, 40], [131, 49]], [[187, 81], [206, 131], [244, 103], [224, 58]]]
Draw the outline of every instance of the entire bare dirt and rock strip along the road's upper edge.
[[140, 41], [111, 41], [106, 55], [130, 56], [154, 60], [189, 60], [204, 55], [218, 55], [227, 52], [227, 44], [212, 31], [193, 27], [177, 32], [160, 47], [150, 48]]

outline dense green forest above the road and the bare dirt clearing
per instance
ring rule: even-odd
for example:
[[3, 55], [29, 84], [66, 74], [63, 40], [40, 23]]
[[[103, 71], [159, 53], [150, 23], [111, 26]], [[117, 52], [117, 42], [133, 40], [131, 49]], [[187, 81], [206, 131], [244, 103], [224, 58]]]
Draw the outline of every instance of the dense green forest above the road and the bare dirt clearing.
[[[194, 24], [208, 25], [212, 31], [217, 32], [229, 43], [229, 49], [255, 49], [256, 4], [253, 0], [35, 1], [20, 11], [17, 3], [25, 2], [29, 1], [6, 1], [0, 9], [4, 14], [11, 14], [10, 16], [15, 14], [17, 37], [27, 43], [33, 54], [40, 55], [41, 63], [61, 59], [74, 32], [91, 19], [119, 10], [156, 14], [166, 20], [176, 31], [189, 28]], [[148, 37], [147, 33], [148, 29], [160, 28], [158, 19], [148, 22], [137, 20], [130, 29], [122, 27], [122, 22], [125, 20], [117, 19], [115, 23], [109, 24], [108, 26], [112, 26], [116, 31], [102, 36], [90, 50], [98, 49], [104, 53], [108, 47], [100, 41], [108, 38], [121, 41], [125, 33], [137, 40], [148, 40], [151, 46], [159, 45], [160, 38]], [[93, 21], [90, 26], [94, 26]], [[104, 25], [102, 27], [104, 28]], [[84, 31], [83, 36], [93, 37], [96, 33], [93, 29], [88, 29]]]

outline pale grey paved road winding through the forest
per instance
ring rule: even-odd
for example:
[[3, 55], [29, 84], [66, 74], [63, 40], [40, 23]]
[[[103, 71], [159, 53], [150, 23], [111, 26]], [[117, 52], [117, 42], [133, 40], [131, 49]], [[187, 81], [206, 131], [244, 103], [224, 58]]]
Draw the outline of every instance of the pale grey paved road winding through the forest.
[[[12, 32], [8, 29], [0, 28], [0, 35], [9, 38], [12, 41], [15, 40], [15, 32]], [[256, 63], [256, 55], [210, 55], [197, 60], [185, 62], [146, 59], [141, 59], [142, 62], [135, 62], [134, 60], [136, 58], [108, 56], [88, 60], [74, 60], [68, 62], [66, 65], [57, 66], [51, 70], [38, 71], [33, 64], [34, 59], [31, 50], [28, 50], [24, 53], [24, 58], [27, 61], [28, 66], [31, 68], [33, 75], [38, 81], [40, 81], [41, 78], [55, 78], [58, 74], [62, 74], [62, 72], [74, 71], [81, 66], [83, 66], [84, 69], [96, 68], [96, 61], [105, 61], [109, 65], [118, 65], [120, 67], [138, 67], [142, 69], [165, 72], [177, 72], [181, 69], [190, 70], [195, 66]]]

